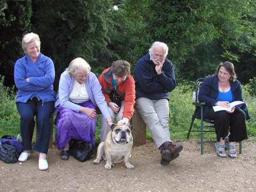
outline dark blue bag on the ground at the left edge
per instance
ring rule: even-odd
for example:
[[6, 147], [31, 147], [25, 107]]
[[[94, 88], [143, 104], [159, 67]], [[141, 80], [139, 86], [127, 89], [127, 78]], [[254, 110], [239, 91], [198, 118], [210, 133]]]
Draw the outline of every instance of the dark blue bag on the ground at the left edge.
[[4, 163], [17, 163], [19, 154], [14, 146], [0, 142], [0, 159]]

